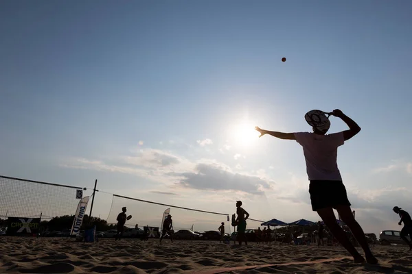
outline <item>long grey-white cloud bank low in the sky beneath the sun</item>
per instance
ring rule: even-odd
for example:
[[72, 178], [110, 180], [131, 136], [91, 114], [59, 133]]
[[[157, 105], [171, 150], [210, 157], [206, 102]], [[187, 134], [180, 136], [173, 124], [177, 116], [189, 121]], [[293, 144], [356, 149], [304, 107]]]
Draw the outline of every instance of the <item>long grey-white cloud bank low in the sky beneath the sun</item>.
[[62, 166], [128, 173], [163, 183], [173, 189], [230, 190], [244, 195], [262, 195], [273, 186], [270, 179], [241, 173], [242, 166], [236, 166], [237, 171], [233, 171], [230, 166], [216, 160], [192, 161], [159, 149], [135, 149], [133, 154], [120, 156], [115, 163], [78, 158]]

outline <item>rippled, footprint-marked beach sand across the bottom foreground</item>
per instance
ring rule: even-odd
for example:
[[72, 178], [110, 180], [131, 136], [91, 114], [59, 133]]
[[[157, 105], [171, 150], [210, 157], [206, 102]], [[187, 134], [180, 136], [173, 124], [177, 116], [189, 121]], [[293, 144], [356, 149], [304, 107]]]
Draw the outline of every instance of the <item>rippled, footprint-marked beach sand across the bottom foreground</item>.
[[[378, 266], [354, 264], [341, 247], [0, 238], [0, 273], [412, 273], [412, 252], [406, 246], [372, 249], [380, 260]], [[264, 266], [268, 264], [277, 266]], [[229, 269], [248, 266], [251, 269]]]

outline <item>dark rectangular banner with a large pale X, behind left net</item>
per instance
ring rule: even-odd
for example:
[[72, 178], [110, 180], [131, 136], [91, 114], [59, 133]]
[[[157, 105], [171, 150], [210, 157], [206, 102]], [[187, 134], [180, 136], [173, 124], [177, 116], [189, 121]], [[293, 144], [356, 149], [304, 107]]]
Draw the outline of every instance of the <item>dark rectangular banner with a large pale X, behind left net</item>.
[[9, 217], [7, 234], [10, 236], [32, 236], [38, 234], [40, 218]]

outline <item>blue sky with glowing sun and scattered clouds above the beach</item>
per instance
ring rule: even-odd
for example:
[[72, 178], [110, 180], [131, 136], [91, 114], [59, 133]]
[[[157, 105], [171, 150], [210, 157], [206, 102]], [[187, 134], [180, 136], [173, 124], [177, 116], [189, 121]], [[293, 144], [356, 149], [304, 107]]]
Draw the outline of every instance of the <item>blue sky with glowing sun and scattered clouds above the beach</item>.
[[115, 193], [227, 214], [241, 199], [253, 219], [317, 221], [301, 147], [253, 127], [306, 132], [308, 110], [339, 108], [362, 128], [338, 156], [356, 219], [400, 229], [391, 208], [412, 211], [411, 9], [2, 1], [0, 174], [86, 195], [98, 179], [93, 214], [108, 219]]

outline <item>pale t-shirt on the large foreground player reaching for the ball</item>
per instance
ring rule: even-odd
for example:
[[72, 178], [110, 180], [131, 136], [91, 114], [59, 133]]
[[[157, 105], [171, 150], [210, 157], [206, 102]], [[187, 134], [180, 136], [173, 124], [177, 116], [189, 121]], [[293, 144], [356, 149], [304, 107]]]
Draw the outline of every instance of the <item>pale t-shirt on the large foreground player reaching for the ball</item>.
[[338, 147], [345, 142], [343, 132], [327, 135], [297, 132], [295, 138], [304, 148], [309, 180], [342, 181], [336, 158]]

